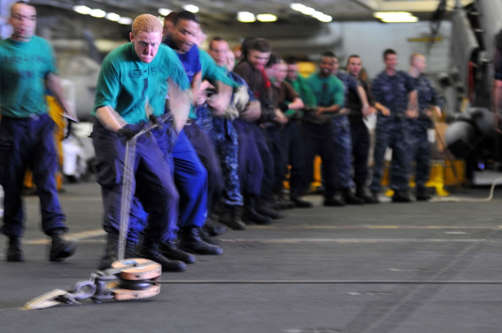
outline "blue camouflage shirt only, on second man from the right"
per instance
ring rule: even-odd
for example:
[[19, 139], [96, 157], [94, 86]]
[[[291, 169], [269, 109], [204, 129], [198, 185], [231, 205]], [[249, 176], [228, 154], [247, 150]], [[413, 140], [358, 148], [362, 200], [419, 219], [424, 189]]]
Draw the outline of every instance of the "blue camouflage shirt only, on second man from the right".
[[372, 83], [372, 93], [375, 101], [391, 110], [392, 115], [401, 115], [408, 109], [408, 93], [415, 90], [413, 78], [404, 71], [396, 71], [390, 76], [381, 72]]

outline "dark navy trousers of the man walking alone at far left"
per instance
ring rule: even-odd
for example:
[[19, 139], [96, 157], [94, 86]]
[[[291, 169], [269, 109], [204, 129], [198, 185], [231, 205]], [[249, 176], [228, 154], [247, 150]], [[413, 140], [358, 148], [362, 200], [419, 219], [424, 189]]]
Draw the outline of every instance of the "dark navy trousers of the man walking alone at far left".
[[42, 230], [49, 235], [52, 229], [66, 228], [55, 181], [58, 157], [54, 126], [48, 114], [29, 118], [4, 116], [0, 121], [0, 185], [5, 193], [2, 233], [6, 236], [23, 236], [21, 191], [27, 167], [33, 173], [40, 198]]

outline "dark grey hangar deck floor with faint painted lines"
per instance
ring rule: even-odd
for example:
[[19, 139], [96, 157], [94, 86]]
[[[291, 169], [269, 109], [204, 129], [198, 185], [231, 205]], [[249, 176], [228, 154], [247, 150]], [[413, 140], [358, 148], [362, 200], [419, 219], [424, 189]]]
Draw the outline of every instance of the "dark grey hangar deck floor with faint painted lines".
[[[304, 281], [302, 284], [166, 284], [137, 301], [22, 311], [95, 269], [104, 244], [95, 183], [65, 185], [61, 202], [75, 256], [47, 260], [38, 199], [26, 198], [27, 261], [5, 261], [0, 238], [0, 332], [500, 332], [502, 193], [486, 203], [412, 203], [295, 209], [271, 226], [219, 237], [224, 254], [197, 256], [163, 280]], [[487, 188], [458, 190], [482, 198]], [[350, 281], [315, 284], [309, 281]], [[394, 283], [368, 283], [393, 281]], [[500, 281], [430, 284], [410, 281]]]

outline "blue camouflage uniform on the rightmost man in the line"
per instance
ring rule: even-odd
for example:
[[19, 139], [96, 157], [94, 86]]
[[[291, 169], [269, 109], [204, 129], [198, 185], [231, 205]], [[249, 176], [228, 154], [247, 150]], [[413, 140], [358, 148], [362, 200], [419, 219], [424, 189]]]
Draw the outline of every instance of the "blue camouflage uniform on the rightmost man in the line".
[[410, 144], [411, 144], [411, 159], [416, 162], [415, 183], [417, 189], [425, 188], [425, 183], [429, 180], [430, 172], [430, 145], [427, 131], [433, 128], [432, 119], [426, 114], [430, 105], [437, 105], [440, 108], [443, 101], [437, 94], [432, 82], [424, 75], [420, 74], [418, 78], [413, 79], [418, 94], [418, 109], [420, 115], [417, 119], [408, 119], [410, 124]]

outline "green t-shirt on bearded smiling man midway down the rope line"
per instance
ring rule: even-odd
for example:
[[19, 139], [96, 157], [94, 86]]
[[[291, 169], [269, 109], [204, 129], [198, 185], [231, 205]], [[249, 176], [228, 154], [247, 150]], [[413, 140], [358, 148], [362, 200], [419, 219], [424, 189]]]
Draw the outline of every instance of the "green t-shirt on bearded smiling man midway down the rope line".
[[330, 75], [322, 78], [319, 73], [314, 73], [307, 78], [307, 83], [315, 95], [318, 106], [339, 105], [344, 106], [345, 94], [343, 82], [337, 77]]

